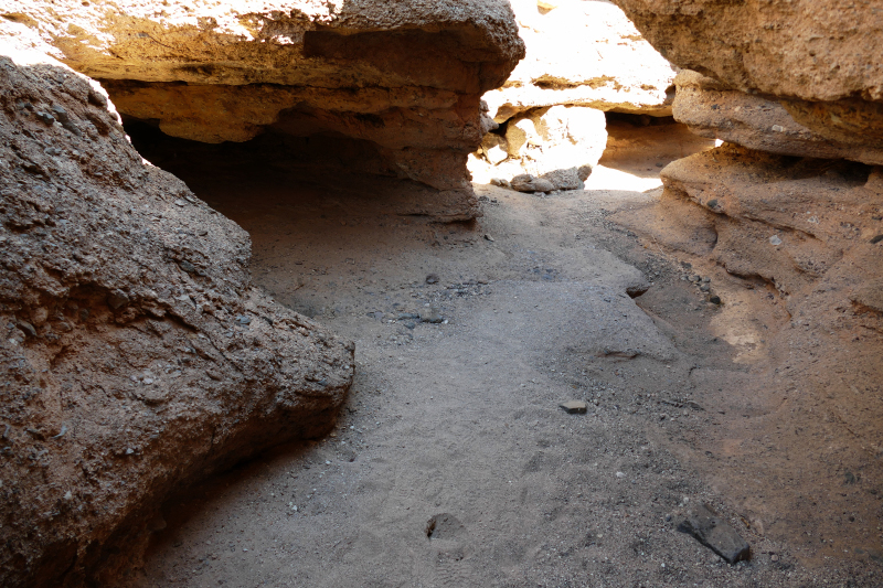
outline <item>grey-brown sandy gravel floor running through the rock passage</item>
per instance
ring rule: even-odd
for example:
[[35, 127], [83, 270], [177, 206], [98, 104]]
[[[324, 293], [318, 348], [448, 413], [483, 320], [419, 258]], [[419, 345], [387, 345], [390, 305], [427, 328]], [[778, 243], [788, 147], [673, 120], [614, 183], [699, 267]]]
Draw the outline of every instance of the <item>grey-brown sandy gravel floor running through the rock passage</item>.
[[[812, 506], [788, 510], [722, 437], [778, 400], [751, 396], [755, 346], [722, 336], [727, 310], [687, 281], [699, 269], [610, 222], [658, 196], [629, 183], [656, 185], [657, 162], [549, 197], [477, 186], [485, 216], [450, 225], [290, 174], [168, 165], [251, 233], [258, 284], [357, 342], [358, 368], [331, 436], [171, 501], [141, 585], [883, 582], [875, 496], [863, 531], [808, 538]], [[443, 322], [412, 318], [428, 313]], [[677, 532], [696, 503], [749, 562]]]

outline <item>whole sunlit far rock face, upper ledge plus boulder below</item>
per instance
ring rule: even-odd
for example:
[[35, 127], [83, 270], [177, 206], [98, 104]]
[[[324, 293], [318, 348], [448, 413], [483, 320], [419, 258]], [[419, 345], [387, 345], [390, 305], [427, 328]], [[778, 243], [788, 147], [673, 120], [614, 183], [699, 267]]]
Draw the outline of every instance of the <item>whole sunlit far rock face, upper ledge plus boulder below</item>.
[[[512, 3], [528, 47], [501, 88], [483, 99], [500, 124], [469, 159], [478, 182], [597, 164], [605, 111], [671, 115], [674, 68], [608, 1]], [[555, 190], [574, 190], [568, 182]]]

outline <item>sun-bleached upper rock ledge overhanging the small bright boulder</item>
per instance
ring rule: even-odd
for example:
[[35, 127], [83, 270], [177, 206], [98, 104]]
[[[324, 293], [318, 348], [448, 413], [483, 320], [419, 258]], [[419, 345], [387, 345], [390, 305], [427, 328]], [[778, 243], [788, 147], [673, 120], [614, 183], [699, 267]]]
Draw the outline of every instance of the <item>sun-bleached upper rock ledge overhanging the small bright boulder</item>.
[[502, 88], [485, 95], [497, 122], [533, 108], [671, 115], [674, 70], [606, 0], [513, 0], [528, 54]]

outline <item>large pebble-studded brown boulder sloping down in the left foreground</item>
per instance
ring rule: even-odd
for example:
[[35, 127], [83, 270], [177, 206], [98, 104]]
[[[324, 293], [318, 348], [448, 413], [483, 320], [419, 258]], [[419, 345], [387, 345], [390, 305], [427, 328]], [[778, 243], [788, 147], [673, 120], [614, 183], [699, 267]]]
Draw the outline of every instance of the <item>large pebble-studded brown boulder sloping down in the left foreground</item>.
[[97, 86], [0, 57], [0, 584], [126, 585], [173, 489], [333, 424], [353, 348]]

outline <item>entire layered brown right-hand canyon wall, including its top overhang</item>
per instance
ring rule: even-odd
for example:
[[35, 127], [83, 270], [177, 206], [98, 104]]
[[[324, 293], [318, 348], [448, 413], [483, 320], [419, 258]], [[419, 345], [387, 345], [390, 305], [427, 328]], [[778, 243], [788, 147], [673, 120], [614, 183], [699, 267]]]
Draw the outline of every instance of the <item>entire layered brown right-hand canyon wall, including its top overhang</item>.
[[[749, 374], [728, 394], [767, 403], [719, 431], [764, 475], [722, 462], [709, 477], [746, 520], [767, 521], [767, 536], [818, 544], [839, 524], [850, 541], [875, 544], [883, 10], [809, 0], [616, 2], [684, 68], [674, 118], [723, 141], [666, 167], [658, 201], [616, 217], [660, 253], [713, 276], [710, 327]], [[701, 449], [727, 451], [712, 442]], [[747, 478], [760, 489], [752, 495], [740, 490]], [[837, 552], [844, 559], [864, 553]]]

